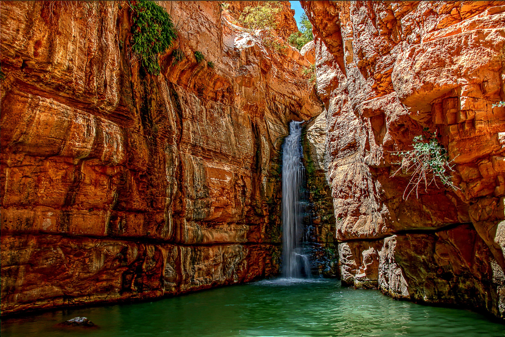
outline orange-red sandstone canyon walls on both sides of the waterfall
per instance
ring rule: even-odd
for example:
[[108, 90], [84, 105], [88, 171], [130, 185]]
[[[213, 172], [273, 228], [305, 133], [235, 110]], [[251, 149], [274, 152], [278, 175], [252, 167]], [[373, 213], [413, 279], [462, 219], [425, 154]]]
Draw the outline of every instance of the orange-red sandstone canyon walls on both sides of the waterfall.
[[[301, 75], [314, 55], [269, 50], [218, 3], [159, 3], [186, 58], [169, 50], [150, 76], [132, 63], [127, 2], [2, 2], [3, 313], [277, 272], [279, 150], [290, 119], [321, 112]], [[342, 281], [503, 317], [505, 2], [302, 5], [326, 108], [306, 150], [331, 184]], [[403, 200], [390, 152], [423, 127], [461, 189]], [[317, 243], [333, 234], [326, 197]]]

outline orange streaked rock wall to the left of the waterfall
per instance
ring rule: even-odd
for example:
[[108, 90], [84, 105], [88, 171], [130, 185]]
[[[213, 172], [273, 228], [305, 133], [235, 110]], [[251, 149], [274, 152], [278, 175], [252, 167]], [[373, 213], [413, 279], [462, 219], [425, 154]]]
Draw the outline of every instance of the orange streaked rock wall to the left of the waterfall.
[[125, 2], [2, 3], [3, 314], [277, 274], [282, 140], [321, 113], [310, 63], [216, 2], [159, 4], [186, 58], [151, 76]]

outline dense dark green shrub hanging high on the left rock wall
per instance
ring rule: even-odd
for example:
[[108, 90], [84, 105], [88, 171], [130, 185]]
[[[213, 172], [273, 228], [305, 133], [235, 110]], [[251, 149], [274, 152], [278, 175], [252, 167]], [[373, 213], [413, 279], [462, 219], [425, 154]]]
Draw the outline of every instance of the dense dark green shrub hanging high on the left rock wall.
[[151, 75], [160, 74], [158, 54], [164, 53], [177, 39], [172, 18], [152, 1], [131, 3], [132, 51]]

